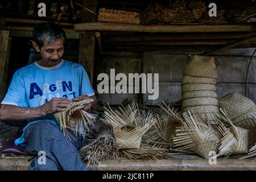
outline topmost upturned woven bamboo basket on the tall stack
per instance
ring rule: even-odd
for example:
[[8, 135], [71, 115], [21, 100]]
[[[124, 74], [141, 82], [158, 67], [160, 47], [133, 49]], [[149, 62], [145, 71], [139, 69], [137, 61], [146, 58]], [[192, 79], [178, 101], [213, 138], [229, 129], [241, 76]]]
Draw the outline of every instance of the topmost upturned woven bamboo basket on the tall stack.
[[214, 63], [214, 57], [195, 55], [184, 69], [183, 75], [206, 78], [217, 78], [218, 71]]

